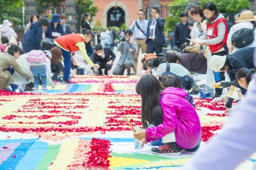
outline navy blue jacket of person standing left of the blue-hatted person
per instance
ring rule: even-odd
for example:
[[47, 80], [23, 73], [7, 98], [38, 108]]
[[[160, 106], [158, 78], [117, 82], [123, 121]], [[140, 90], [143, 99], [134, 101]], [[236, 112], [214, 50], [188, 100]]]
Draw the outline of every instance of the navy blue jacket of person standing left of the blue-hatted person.
[[43, 33], [43, 26], [41, 22], [33, 22], [30, 27], [24, 33], [22, 40], [22, 49], [24, 53], [28, 53], [31, 50], [41, 49], [41, 39]]

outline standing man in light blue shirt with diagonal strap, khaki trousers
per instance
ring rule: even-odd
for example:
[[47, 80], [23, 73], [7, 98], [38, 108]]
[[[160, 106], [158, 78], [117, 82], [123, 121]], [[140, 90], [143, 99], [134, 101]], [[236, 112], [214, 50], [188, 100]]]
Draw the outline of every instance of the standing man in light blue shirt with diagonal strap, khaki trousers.
[[136, 74], [137, 72], [137, 64], [138, 64], [138, 56], [140, 52], [140, 48], [142, 53], [146, 53], [147, 45], [145, 43], [146, 40], [146, 33], [148, 30], [148, 20], [144, 19], [145, 11], [139, 10], [138, 11], [138, 20], [133, 21], [130, 30], [133, 32], [133, 39], [134, 42], [138, 44], [138, 51], [134, 55], [135, 66], [133, 68], [132, 74]]

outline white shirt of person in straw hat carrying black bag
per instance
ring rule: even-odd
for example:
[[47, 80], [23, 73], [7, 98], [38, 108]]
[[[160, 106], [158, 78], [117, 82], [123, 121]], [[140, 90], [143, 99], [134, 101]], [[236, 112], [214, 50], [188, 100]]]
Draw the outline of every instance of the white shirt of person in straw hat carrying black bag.
[[[236, 31], [238, 31], [240, 29], [244, 29], [244, 28], [252, 29], [252, 27], [253, 27], [253, 25], [252, 25], [251, 22], [240, 22], [240, 23], [238, 23], [236, 25], [233, 25], [230, 28], [230, 31], [228, 33], [228, 39], [227, 39], [227, 46], [228, 46], [228, 48], [232, 48], [231, 38], [232, 38], [232, 35]], [[250, 45], [247, 45], [246, 47], [256, 47], [256, 29], [254, 30], [254, 41]], [[244, 47], [244, 48], [246, 48], [246, 47]], [[236, 52], [237, 50], [239, 50], [239, 49], [236, 48], [236, 47], [233, 47], [232, 53]]]

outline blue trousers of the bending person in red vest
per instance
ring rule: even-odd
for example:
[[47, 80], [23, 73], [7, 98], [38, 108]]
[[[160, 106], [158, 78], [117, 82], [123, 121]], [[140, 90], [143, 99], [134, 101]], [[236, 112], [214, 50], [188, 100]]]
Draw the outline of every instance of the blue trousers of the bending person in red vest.
[[[57, 45], [53, 45], [54, 47], [58, 47]], [[58, 47], [60, 48], [60, 47]], [[70, 74], [70, 70], [71, 70], [71, 56], [70, 56], [70, 51], [66, 51], [62, 48], [60, 48], [62, 51], [62, 56], [64, 58], [64, 75], [63, 75], [63, 79], [64, 80], [68, 80], [69, 79], [69, 74]]]

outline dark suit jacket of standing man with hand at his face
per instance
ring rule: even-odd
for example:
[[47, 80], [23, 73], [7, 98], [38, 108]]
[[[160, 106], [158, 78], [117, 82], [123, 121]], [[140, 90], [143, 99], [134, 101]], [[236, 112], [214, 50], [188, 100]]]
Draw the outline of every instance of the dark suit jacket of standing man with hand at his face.
[[[153, 22], [153, 19], [148, 21], [148, 31], [147, 31], [146, 43], [148, 42], [148, 37], [150, 36], [150, 26], [151, 26], [152, 22]], [[163, 34], [164, 24], [165, 24], [164, 18], [158, 18], [156, 20], [155, 36], [156, 36], [156, 43], [159, 46], [162, 46], [165, 43], [164, 34]]]

